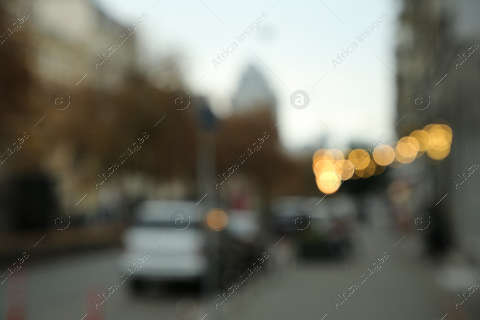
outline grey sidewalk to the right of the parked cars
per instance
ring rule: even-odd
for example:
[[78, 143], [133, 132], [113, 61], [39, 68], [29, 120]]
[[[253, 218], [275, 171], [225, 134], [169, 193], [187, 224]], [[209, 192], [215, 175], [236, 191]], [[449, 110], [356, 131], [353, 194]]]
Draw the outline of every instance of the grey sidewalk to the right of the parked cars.
[[[243, 301], [225, 312], [234, 316], [225, 319], [320, 320], [327, 313], [324, 320], [440, 320], [444, 316], [432, 265], [409, 250], [415, 239], [404, 238], [406, 246], [393, 248], [401, 236], [377, 234], [361, 238], [362, 250], [356, 258], [342, 259], [345, 264], [339, 259], [320, 264], [293, 262], [284, 268], [281, 278], [258, 281], [246, 290]], [[357, 277], [384, 252], [388, 258], [381, 268], [361, 283]], [[353, 293], [336, 306], [333, 299], [341, 302], [337, 295], [354, 282], [359, 287], [350, 289]]]

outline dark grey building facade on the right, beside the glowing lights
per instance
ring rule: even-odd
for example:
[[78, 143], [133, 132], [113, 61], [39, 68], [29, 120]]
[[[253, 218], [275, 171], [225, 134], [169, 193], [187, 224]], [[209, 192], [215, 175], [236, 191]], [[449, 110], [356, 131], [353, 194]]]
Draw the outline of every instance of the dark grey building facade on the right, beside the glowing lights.
[[[473, 163], [480, 165], [480, 2], [403, 0], [399, 5], [404, 9], [398, 30], [396, 121], [405, 118], [396, 129], [400, 136], [408, 135], [440, 119], [451, 126], [449, 156], [427, 167], [435, 191], [425, 199], [425, 209], [443, 217], [464, 255], [480, 261], [480, 174], [465, 174]], [[417, 90], [424, 92], [418, 95]], [[416, 98], [423, 104], [416, 104]]]

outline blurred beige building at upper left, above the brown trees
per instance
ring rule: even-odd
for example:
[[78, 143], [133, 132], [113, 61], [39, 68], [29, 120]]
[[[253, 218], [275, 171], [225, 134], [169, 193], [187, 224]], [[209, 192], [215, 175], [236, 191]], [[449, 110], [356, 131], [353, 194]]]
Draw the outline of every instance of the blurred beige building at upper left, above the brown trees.
[[[108, 18], [96, 1], [42, 0], [35, 7], [31, 1], [16, 1], [7, 8], [12, 18], [22, 17], [24, 12], [28, 15], [17, 33], [23, 33], [28, 41], [24, 63], [40, 85], [42, 81], [57, 89], [113, 90], [136, 65], [135, 32], [127, 32], [132, 27]], [[113, 43], [119, 47], [108, 50]], [[99, 55], [105, 62], [96, 65], [94, 59], [102, 62]]]

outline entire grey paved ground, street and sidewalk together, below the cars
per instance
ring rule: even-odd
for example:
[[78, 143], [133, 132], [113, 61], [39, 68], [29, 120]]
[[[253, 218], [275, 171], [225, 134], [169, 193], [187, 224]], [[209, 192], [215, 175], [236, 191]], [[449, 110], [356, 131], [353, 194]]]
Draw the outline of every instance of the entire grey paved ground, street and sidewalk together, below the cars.
[[[117, 268], [118, 250], [94, 250], [96, 255], [85, 251], [29, 265], [26, 261], [26, 290], [18, 296], [29, 308], [24, 308], [29, 320], [81, 320], [86, 313], [84, 320], [201, 320], [207, 313], [204, 320], [320, 320], [327, 313], [324, 320], [440, 320], [446, 311], [433, 280], [433, 266], [422, 258], [414, 235], [394, 248], [402, 236], [364, 229], [356, 237], [357, 249], [352, 257], [343, 262], [333, 257], [331, 261], [312, 263], [295, 261], [285, 238], [271, 249], [272, 259], [280, 261], [280, 266], [249, 278], [217, 309], [214, 297], [199, 298], [189, 291], [159, 294], [154, 290], [136, 297], [125, 283], [108, 297], [100, 316], [96, 315], [88, 292], [107, 289], [116, 281], [121, 273]], [[357, 277], [384, 252], [388, 258], [381, 269], [360, 283]], [[8, 281], [0, 284], [2, 319], [7, 319], [3, 315], [18, 303]], [[359, 288], [336, 309], [333, 299], [354, 282]]]

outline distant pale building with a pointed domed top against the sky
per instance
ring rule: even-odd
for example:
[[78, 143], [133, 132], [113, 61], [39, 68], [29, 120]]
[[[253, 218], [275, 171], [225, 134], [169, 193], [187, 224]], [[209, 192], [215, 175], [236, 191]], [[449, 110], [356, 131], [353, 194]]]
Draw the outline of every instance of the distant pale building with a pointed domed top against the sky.
[[263, 74], [249, 66], [243, 74], [239, 88], [232, 98], [234, 114], [267, 109], [276, 119], [276, 98]]

